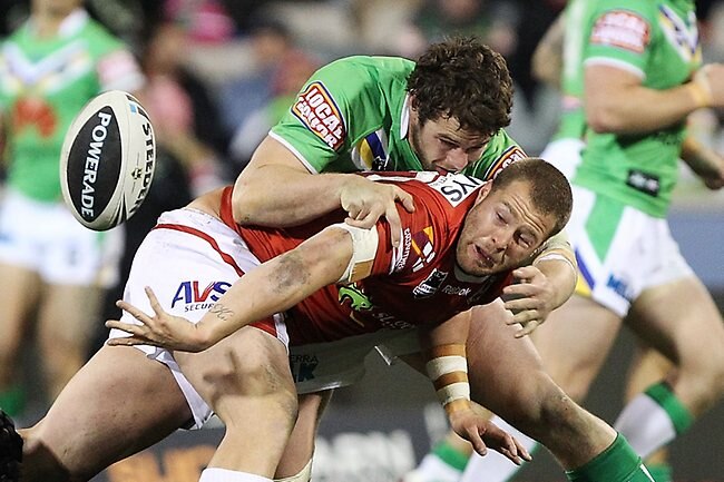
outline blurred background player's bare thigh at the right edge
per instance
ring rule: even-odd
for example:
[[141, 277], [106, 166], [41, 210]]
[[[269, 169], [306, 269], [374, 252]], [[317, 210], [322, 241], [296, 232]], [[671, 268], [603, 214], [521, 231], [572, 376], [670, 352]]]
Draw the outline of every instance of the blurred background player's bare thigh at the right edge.
[[633, 304], [627, 323], [638, 336], [679, 365], [694, 364], [706, 370], [722, 362], [716, 358], [724, 346], [722, 314], [694, 276], [644, 291]]

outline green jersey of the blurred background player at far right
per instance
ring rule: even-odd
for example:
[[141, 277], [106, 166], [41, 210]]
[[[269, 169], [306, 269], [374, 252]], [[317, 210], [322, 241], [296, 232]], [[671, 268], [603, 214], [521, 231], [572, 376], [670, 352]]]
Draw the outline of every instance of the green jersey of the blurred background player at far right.
[[[584, 66], [608, 65], [642, 78], [644, 87], [671, 89], [701, 66], [692, 0], [585, 1]], [[574, 184], [665, 217], [677, 178], [684, 122], [640, 135], [586, 132]]]

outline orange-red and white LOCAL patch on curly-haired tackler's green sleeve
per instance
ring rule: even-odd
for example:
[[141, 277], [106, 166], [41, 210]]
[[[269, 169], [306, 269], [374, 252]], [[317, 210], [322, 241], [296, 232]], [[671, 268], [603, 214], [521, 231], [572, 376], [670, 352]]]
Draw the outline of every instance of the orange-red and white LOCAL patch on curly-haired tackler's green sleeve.
[[292, 112], [332, 149], [344, 144], [344, 119], [322, 82], [310, 83], [292, 106]]

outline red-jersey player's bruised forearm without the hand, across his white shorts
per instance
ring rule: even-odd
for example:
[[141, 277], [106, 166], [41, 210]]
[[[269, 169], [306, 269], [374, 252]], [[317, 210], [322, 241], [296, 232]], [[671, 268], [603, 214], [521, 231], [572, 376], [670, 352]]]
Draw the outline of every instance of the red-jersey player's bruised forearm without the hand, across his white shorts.
[[348, 233], [326, 229], [297, 248], [242, 276], [196, 325], [199, 344], [212, 346], [237, 329], [284, 312], [335, 283], [352, 252]]

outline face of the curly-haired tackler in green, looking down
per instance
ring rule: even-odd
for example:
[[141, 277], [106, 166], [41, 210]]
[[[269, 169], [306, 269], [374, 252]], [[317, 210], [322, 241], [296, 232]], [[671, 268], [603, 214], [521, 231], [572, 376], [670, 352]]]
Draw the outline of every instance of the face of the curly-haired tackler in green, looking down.
[[490, 140], [490, 136], [460, 129], [454, 118], [441, 117], [421, 125], [414, 110], [410, 112], [408, 135], [423, 169], [441, 174], [459, 173], [480, 159]]

